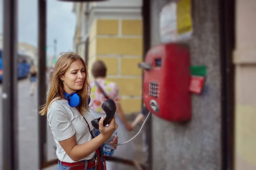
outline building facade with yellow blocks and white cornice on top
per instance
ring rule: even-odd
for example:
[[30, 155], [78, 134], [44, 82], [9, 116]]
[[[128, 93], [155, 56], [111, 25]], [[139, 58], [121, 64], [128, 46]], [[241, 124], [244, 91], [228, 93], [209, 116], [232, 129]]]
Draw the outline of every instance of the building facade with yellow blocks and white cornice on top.
[[74, 5], [74, 50], [85, 56], [90, 80], [92, 63], [98, 59], [105, 62], [107, 79], [119, 86], [126, 114], [139, 112], [142, 105], [142, 70], [137, 67], [143, 59], [141, 7], [141, 0]]

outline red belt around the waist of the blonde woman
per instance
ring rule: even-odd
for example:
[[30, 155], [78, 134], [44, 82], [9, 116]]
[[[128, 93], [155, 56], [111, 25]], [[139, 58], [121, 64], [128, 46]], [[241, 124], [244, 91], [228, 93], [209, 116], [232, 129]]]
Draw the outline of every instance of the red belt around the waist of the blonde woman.
[[[99, 161], [100, 161], [99, 156], [96, 154], [95, 159], [93, 159], [92, 161], [87, 161], [87, 170], [93, 167], [97, 167], [99, 164]], [[59, 163], [66, 167], [70, 167], [70, 170], [84, 170], [86, 165], [86, 162], [84, 161], [68, 163], [68, 162], [63, 162], [59, 160]]]

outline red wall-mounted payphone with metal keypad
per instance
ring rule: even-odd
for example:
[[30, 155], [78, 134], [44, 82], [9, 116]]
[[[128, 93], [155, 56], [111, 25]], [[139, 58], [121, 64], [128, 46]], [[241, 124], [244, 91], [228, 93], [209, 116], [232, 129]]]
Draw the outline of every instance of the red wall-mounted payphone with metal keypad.
[[162, 44], [151, 48], [145, 62], [143, 100], [154, 115], [174, 122], [191, 119], [189, 93], [189, 48], [181, 44]]

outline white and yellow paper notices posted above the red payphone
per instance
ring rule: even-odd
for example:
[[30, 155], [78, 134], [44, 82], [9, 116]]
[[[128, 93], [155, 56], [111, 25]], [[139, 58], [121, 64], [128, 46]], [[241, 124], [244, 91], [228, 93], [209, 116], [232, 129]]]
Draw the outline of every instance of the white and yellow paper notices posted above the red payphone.
[[160, 13], [161, 42], [179, 42], [192, 37], [190, 0], [176, 0], [163, 7]]

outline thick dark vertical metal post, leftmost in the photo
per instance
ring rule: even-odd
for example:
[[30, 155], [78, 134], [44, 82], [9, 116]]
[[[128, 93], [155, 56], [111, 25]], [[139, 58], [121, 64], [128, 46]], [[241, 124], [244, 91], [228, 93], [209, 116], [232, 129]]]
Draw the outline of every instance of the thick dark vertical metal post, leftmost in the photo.
[[18, 170], [17, 1], [3, 0], [3, 170]]

